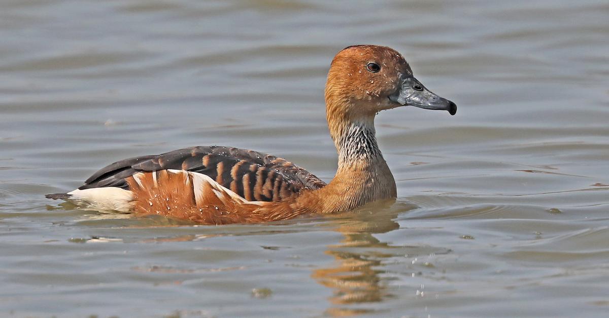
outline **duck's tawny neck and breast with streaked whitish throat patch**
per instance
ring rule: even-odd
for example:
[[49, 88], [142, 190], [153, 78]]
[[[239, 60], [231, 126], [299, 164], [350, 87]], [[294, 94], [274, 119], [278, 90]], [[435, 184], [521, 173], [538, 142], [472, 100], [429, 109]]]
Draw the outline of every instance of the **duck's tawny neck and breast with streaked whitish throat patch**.
[[356, 120], [329, 115], [339, 167], [328, 185], [312, 192], [316, 212], [352, 210], [368, 202], [395, 198], [395, 180], [376, 142], [374, 114]]

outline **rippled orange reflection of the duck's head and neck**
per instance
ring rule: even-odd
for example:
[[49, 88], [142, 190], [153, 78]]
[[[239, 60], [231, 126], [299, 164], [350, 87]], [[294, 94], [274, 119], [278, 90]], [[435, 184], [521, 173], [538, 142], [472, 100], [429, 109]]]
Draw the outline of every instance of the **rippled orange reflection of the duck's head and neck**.
[[410, 204], [395, 203], [393, 200], [380, 202], [353, 212], [349, 219], [337, 219], [336, 230], [344, 235], [339, 245], [329, 246], [326, 254], [336, 259], [334, 266], [315, 269], [311, 277], [321, 285], [333, 289], [334, 295], [329, 298], [333, 305], [327, 314], [331, 316], [352, 316], [370, 313], [365, 308], [346, 308], [345, 305], [357, 303], [381, 302], [391, 294], [387, 292], [379, 274], [385, 258], [396, 256], [389, 246], [379, 241], [374, 233], [387, 233], [400, 228], [393, 221], [400, 212], [415, 209]]

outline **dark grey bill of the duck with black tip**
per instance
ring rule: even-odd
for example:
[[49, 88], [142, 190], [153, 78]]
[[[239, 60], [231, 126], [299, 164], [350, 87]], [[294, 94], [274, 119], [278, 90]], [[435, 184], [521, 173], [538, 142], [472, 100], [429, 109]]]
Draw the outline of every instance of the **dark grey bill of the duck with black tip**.
[[455, 103], [432, 93], [413, 76], [404, 78], [400, 90], [390, 95], [389, 99], [403, 106], [448, 111], [451, 115], [457, 113]]

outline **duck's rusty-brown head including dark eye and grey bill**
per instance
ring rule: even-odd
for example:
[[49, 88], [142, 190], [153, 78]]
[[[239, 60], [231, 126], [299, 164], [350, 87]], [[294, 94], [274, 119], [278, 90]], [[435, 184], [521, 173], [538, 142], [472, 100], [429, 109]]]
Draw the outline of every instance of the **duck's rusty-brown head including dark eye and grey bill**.
[[376, 112], [399, 106], [457, 112], [455, 103], [429, 91], [412, 75], [404, 57], [385, 46], [341, 50], [330, 66], [325, 97], [328, 120], [373, 118]]

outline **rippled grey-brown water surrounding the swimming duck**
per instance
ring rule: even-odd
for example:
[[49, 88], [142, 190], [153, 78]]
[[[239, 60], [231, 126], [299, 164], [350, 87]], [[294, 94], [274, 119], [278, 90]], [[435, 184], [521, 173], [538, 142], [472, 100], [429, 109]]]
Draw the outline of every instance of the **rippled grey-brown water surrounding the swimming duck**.
[[[0, 10], [0, 316], [605, 316], [607, 1], [19, 1]], [[398, 199], [192, 226], [43, 198], [230, 145], [328, 181], [323, 85], [391, 46], [446, 112], [381, 112]]]

